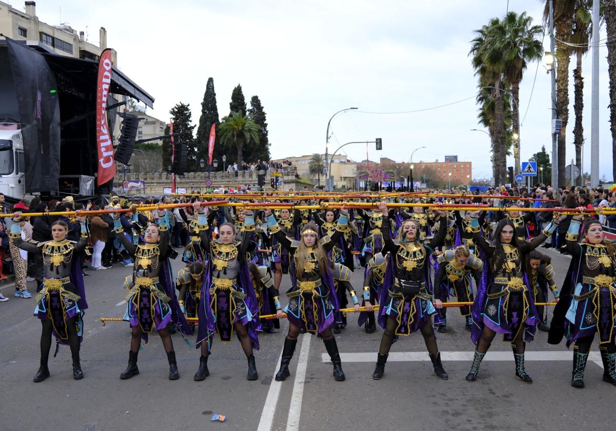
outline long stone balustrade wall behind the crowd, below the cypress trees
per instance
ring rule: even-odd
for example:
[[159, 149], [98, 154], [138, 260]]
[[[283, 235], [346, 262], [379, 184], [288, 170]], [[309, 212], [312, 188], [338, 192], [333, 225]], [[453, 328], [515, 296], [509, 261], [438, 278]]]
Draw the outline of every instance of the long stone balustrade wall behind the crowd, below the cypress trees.
[[[295, 174], [297, 168], [295, 166], [285, 166], [280, 171], [283, 174], [283, 184], [278, 186], [278, 190], [298, 190], [304, 186], [303, 183], [296, 182]], [[256, 187], [258, 185], [258, 174], [265, 174], [265, 190], [273, 190], [270, 187], [270, 179], [272, 171], [238, 171], [238, 172], [211, 172], [210, 179], [212, 180], [212, 188], [217, 187], [238, 187], [238, 185], [250, 185]], [[146, 194], [146, 195], [161, 195], [163, 188], [171, 187], [171, 174], [161, 172], [159, 174], [126, 174], [127, 181], [144, 181], [145, 192], [142, 189], [136, 188], [124, 190], [124, 194]], [[194, 188], [200, 191], [206, 190], [205, 182], [208, 180], [208, 172], [187, 172], [184, 175], [177, 175], [176, 187], [185, 188], [187, 193], [191, 193]], [[120, 192], [123, 185], [124, 174], [116, 172], [114, 183], [116, 191]]]

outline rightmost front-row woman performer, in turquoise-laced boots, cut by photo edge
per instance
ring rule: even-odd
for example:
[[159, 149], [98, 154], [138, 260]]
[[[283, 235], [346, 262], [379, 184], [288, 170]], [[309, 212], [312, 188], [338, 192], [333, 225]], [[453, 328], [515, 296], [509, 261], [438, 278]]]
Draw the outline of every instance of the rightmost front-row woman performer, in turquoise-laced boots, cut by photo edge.
[[[579, 208], [583, 210], [583, 207]], [[573, 216], [567, 236], [567, 250], [573, 256], [573, 292], [566, 318], [567, 346], [573, 343], [571, 385], [584, 387], [584, 371], [594, 335], [599, 336], [603, 381], [616, 385], [616, 254], [614, 244], [604, 240], [599, 220], [586, 220], [585, 242], [578, 243], [583, 213]], [[556, 219], [556, 215], [554, 216]], [[564, 216], [561, 218], [564, 219]]]

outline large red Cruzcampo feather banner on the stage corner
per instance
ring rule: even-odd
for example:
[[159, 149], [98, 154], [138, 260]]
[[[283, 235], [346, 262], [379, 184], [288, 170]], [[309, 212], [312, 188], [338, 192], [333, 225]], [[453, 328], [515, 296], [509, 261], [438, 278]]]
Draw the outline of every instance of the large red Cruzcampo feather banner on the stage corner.
[[111, 89], [111, 49], [100, 54], [99, 76], [96, 80], [96, 147], [99, 155], [97, 185], [102, 185], [115, 175], [113, 140], [107, 124], [107, 96]]

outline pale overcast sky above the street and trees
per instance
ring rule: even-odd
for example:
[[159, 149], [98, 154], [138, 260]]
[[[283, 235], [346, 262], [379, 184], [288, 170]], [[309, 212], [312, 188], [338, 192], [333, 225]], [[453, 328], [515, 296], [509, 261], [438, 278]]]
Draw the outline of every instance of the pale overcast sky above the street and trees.
[[[23, 2], [13, 0], [23, 8]], [[413, 111], [468, 99], [448, 107], [397, 115], [341, 113], [332, 121], [330, 153], [349, 141], [383, 139], [379, 156], [442, 161], [458, 155], [472, 161], [473, 176], [490, 177], [490, 141], [477, 125], [476, 82], [468, 57], [473, 30], [505, 15], [507, 0], [439, 1], [211, 1], [131, 0], [36, 2], [41, 21], [68, 23], [98, 43], [107, 28], [118, 66], [155, 97], [148, 113], [169, 121], [177, 102], [190, 103], [198, 122], [208, 77], [214, 78], [218, 110], [229, 113], [233, 87], [246, 103], [259, 95], [272, 144], [272, 158], [325, 150], [330, 116], [342, 108], [370, 112]], [[60, 12], [61, 10], [61, 12]], [[510, 0], [509, 10], [527, 11], [542, 24], [543, 1]], [[60, 14], [61, 13], [61, 14]], [[601, 28], [601, 39], [605, 30]], [[543, 42], [549, 50], [549, 37]], [[607, 48], [600, 48], [601, 175], [612, 175]], [[571, 69], [575, 67], [572, 59]], [[521, 158], [551, 148], [549, 75], [531, 63], [520, 89]], [[591, 58], [585, 76], [585, 171], [590, 172]], [[573, 79], [570, 78], [567, 163], [573, 148]], [[529, 107], [530, 100], [530, 107]], [[527, 111], [527, 107], [528, 111]], [[366, 157], [366, 145], [344, 148]], [[508, 160], [513, 165], [513, 157]]]

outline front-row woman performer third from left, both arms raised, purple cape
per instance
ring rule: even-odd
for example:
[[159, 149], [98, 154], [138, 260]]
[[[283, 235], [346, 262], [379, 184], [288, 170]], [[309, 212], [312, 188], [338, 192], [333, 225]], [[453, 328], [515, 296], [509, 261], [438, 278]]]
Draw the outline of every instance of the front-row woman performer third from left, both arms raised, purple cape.
[[[195, 202], [193, 208], [197, 223], [206, 224], [207, 216], [201, 204]], [[219, 238], [216, 240], [211, 240], [208, 235], [201, 236], [201, 247], [208, 251], [209, 260], [197, 313], [197, 348], [201, 348], [201, 358], [195, 381], [202, 381], [209, 376], [208, 357], [214, 334], [218, 334], [221, 342], [231, 342], [233, 331], [240, 339], [241, 348], [248, 360], [246, 378], [251, 381], [259, 378], [253, 355], [253, 348], [259, 349], [259, 303], [246, 262], [250, 236], [254, 232], [254, 219], [252, 211], [244, 211], [244, 214], [245, 235], [241, 243], [235, 241], [235, 227], [230, 223], [220, 225]]]

